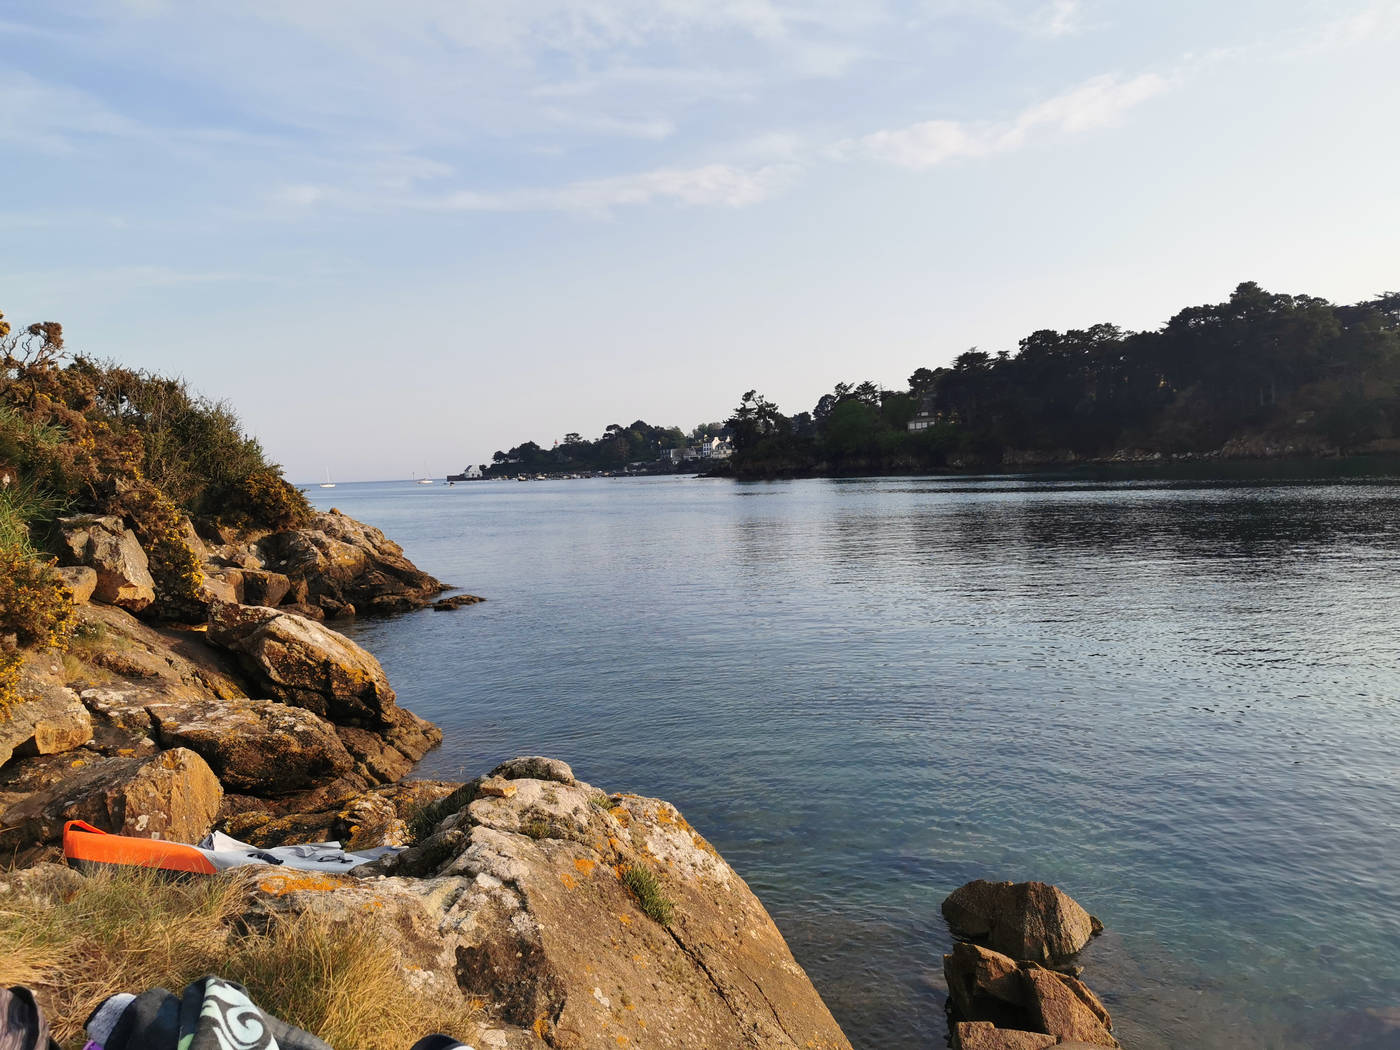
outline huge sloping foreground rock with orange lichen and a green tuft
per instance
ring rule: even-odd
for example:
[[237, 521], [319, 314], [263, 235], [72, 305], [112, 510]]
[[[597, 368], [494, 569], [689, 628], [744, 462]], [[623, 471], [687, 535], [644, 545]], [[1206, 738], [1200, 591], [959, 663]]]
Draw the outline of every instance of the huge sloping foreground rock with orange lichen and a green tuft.
[[[511, 791], [447, 813], [388, 878], [242, 874], [248, 921], [378, 924], [434, 994], [489, 1004], [483, 1044], [848, 1050], [763, 906], [673, 806], [525, 769], [497, 771]], [[641, 906], [633, 868], [669, 911]]]

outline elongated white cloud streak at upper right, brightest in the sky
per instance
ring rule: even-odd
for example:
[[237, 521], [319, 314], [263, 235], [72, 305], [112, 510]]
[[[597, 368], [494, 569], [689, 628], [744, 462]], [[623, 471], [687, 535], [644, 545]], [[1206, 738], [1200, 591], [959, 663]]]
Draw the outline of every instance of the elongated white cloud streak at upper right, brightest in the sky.
[[1099, 76], [1028, 106], [1005, 122], [925, 120], [874, 132], [834, 147], [837, 157], [871, 157], [906, 168], [934, 168], [959, 157], [987, 157], [1025, 146], [1037, 133], [1077, 134], [1117, 123], [1127, 111], [1161, 95], [1170, 81], [1156, 73], [1124, 80]]

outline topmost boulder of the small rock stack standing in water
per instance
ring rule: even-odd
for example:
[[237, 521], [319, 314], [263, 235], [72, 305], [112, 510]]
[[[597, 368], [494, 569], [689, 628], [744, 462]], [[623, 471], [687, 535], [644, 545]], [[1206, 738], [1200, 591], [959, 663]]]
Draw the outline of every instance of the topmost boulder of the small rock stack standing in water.
[[1046, 882], [987, 882], [955, 889], [942, 906], [955, 932], [1035, 962], [1078, 952], [1103, 925], [1070, 895]]

